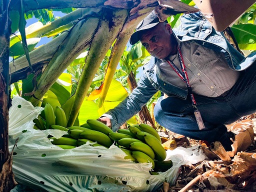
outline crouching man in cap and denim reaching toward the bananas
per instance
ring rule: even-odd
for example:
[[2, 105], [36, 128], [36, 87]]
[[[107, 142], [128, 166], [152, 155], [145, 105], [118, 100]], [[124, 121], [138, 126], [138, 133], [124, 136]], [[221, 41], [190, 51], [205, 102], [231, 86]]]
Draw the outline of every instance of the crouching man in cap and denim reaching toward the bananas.
[[137, 26], [130, 43], [140, 41], [152, 57], [138, 86], [98, 120], [117, 130], [160, 90], [167, 95], [154, 107], [160, 125], [190, 138], [220, 141], [227, 151], [236, 140], [233, 156], [253, 141], [252, 128], [236, 138], [224, 124], [256, 112], [256, 54], [244, 58], [200, 12], [180, 21], [172, 30], [152, 11]]

